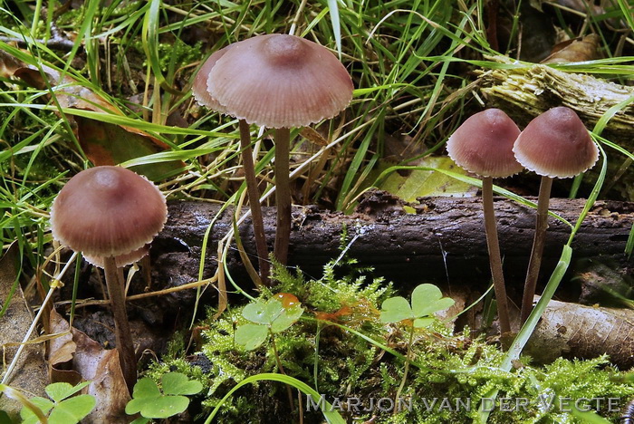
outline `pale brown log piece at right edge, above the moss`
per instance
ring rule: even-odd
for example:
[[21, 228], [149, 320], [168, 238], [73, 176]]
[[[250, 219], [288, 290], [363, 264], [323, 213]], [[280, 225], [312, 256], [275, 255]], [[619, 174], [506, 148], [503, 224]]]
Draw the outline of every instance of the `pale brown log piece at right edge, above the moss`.
[[628, 370], [634, 366], [634, 311], [551, 301], [525, 352], [540, 363], [607, 353]]

